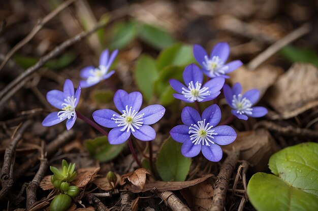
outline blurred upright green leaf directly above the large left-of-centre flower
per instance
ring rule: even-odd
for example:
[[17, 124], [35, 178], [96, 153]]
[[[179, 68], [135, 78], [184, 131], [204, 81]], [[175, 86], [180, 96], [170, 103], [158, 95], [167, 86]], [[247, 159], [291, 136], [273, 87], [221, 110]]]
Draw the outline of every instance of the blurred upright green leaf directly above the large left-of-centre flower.
[[158, 77], [154, 59], [146, 55], [140, 56], [134, 73], [138, 88], [149, 101], [153, 96], [153, 81]]

